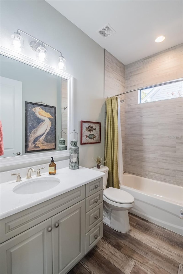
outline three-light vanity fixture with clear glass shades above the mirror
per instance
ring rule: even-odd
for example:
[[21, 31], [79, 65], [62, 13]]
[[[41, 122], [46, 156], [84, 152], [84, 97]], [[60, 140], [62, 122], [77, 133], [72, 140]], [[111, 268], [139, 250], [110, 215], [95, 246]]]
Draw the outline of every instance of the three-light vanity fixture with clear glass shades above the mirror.
[[30, 45], [31, 49], [36, 52], [36, 60], [38, 62], [41, 62], [41, 63], [46, 63], [47, 62], [47, 59], [48, 59], [47, 58], [47, 51], [48, 51], [47, 47], [48, 47], [48, 48], [51, 48], [52, 50], [55, 50], [56, 52], [59, 53], [57, 69], [62, 70], [62, 71], [66, 70], [65, 59], [63, 58], [62, 53], [59, 50], [56, 50], [55, 48], [49, 46], [48, 44], [45, 44], [41, 40], [33, 37], [32, 35], [24, 32], [24, 31], [19, 30], [19, 29], [11, 35], [12, 41], [11, 41], [10, 48], [12, 50], [15, 50], [17, 52], [23, 52], [24, 51], [23, 38], [22, 38], [20, 32], [23, 33], [23, 34], [26, 34], [27, 36], [29, 36], [33, 39], [35, 39], [35, 40], [31, 41], [29, 45]]

